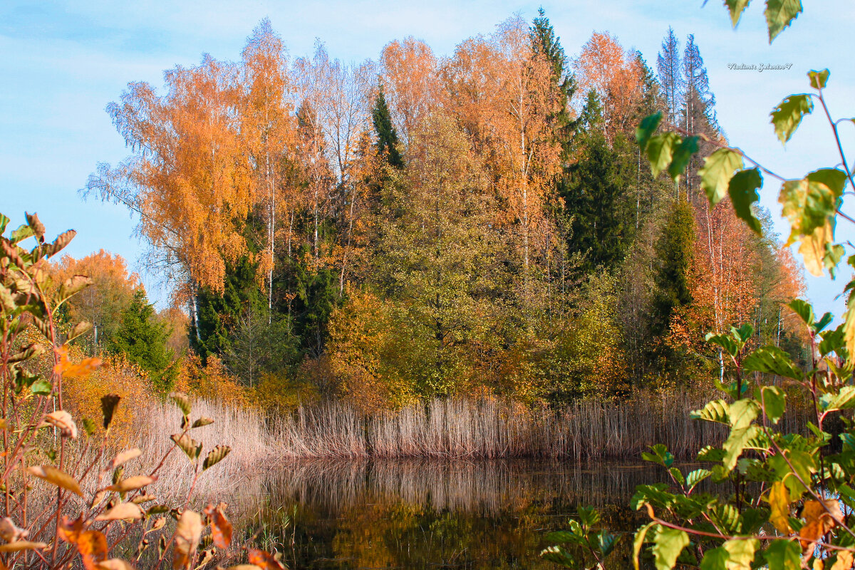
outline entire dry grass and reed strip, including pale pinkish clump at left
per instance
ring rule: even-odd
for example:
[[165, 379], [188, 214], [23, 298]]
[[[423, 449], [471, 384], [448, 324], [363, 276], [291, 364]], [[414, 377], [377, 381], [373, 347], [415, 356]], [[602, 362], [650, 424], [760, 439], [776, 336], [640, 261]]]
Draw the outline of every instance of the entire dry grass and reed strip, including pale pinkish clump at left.
[[[198, 479], [197, 500], [228, 501], [262, 485], [261, 475], [288, 460], [358, 460], [369, 457], [497, 459], [555, 458], [574, 461], [639, 457], [652, 443], [668, 445], [690, 459], [706, 444], [721, 443], [722, 426], [690, 420], [703, 402], [642, 395], [622, 403], [583, 402], [559, 410], [528, 409], [493, 399], [435, 399], [394, 413], [366, 416], [346, 403], [298, 408], [273, 419], [255, 409], [197, 400], [192, 419], [206, 416], [209, 426], [192, 430], [203, 455], [216, 444], [232, 453]], [[795, 430], [795, 414], [783, 429]], [[171, 403], [150, 404], [138, 414], [133, 432], [143, 450], [127, 466], [128, 474], [148, 473], [163, 455], [160, 479], [150, 489], [162, 499], [186, 497], [193, 465], [173, 448], [180, 412]], [[802, 424], [803, 425], [803, 424]], [[356, 463], [354, 469], [358, 471]]]

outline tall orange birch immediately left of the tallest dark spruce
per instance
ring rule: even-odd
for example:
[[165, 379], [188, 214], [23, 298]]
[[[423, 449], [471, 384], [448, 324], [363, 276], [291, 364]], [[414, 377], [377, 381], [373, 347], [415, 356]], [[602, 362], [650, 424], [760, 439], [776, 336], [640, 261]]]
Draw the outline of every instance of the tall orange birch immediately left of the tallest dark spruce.
[[534, 232], [545, 231], [545, 205], [560, 167], [551, 117], [562, 101], [553, 65], [535, 53], [525, 21], [514, 16], [489, 38], [457, 46], [443, 69], [446, 107], [485, 157], [502, 208], [497, 222], [516, 228], [524, 296], [529, 297]]

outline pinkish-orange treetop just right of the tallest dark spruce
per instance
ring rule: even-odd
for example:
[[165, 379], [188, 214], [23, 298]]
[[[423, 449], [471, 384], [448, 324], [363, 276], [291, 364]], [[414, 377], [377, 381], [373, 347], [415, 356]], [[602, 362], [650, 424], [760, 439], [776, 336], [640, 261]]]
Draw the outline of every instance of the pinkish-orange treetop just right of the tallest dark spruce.
[[609, 32], [593, 32], [573, 62], [582, 92], [595, 91], [603, 102], [604, 133], [634, 128], [631, 120], [642, 97], [641, 69], [637, 56], [623, 50]]

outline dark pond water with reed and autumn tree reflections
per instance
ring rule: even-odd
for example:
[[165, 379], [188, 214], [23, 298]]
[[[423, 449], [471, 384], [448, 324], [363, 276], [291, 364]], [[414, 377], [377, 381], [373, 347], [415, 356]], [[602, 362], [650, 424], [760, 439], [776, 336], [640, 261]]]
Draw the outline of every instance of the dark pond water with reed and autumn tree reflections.
[[292, 568], [554, 568], [538, 555], [547, 532], [586, 505], [631, 532], [635, 485], [665, 477], [649, 463], [297, 462], [265, 482], [254, 524]]

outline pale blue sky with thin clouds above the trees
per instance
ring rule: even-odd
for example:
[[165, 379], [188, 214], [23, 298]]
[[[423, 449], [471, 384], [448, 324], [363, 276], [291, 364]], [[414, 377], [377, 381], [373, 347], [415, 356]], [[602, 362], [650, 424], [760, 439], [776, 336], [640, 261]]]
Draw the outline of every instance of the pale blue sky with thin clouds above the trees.
[[[855, 7], [852, 0], [807, 3], [806, 11], [771, 46], [763, 4], [754, 0], [739, 28], [730, 26], [719, 0], [368, 0], [294, 2], [0, 3], [0, 212], [16, 226], [24, 212], [37, 212], [49, 232], [78, 231], [68, 253], [85, 256], [101, 248], [121, 254], [137, 270], [150, 297], [163, 307], [168, 294], [156, 275], [144, 272], [144, 251], [134, 220], [120, 206], [80, 198], [79, 189], [98, 162], [115, 164], [129, 154], [104, 111], [128, 82], [162, 87], [162, 73], [192, 66], [207, 53], [237, 60], [246, 37], [264, 17], [284, 39], [292, 57], [310, 55], [315, 42], [345, 62], [376, 59], [385, 44], [414, 36], [440, 56], [465, 38], [490, 33], [513, 14], [531, 21], [542, 6], [568, 56], [579, 53], [592, 32], [610, 32], [628, 49], [640, 50], [655, 69], [669, 26], [681, 48], [693, 33], [716, 95], [719, 123], [730, 144], [771, 171], [801, 178], [840, 162], [828, 122], [814, 114], [787, 147], [775, 138], [769, 111], [791, 93], [809, 90], [805, 73], [829, 68], [825, 93], [832, 115], [855, 115]], [[770, 64], [780, 70], [746, 71], [735, 65]], [[841, 126], [844, 150], [855, 150], [855, 122]], [[852, 155], [855, 158], [855, 154]], [[761, 203], [786, 238], [778, 185], [769, 180]], [[844, 204], [855, 214], [855, 204]], [[855, 226], [841, 221], [838, 240], [855, 241]], [[843, 311], [836, 297], [848, 279], [807, 276], [808, 297], [820, 312]], [[836, 298], [835, 298], [836, 297]]]

